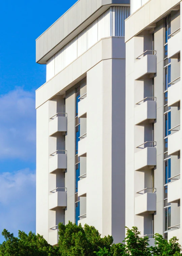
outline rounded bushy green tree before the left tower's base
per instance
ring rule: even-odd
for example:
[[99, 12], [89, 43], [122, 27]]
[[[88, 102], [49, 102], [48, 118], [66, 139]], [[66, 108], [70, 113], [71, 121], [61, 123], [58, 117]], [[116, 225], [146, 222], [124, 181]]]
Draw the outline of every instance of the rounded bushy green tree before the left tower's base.
[[59, 223], [59, 253], [62, 256], [95, 256], [94, 251], [99, 248], [108, 249], [113, 243], [112, 236], [100, 237], [98, 230], [85, 224], [68, 222], [67, 225]]

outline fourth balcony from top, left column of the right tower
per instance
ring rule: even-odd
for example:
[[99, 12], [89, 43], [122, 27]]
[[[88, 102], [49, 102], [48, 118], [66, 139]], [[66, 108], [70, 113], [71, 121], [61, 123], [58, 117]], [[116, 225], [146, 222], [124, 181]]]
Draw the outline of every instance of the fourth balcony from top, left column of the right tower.
[[156, 211], [156, 193], [145, 193], [135, 197], [135, 215]]

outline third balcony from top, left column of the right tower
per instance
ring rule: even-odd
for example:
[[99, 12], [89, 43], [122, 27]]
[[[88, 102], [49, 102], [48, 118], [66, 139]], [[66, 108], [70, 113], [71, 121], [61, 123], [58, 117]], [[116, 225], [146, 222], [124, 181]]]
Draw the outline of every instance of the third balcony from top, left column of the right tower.
[[156, 148], [147, 147], [134, 154], [134, 170], [142, 171], [156, 165]]

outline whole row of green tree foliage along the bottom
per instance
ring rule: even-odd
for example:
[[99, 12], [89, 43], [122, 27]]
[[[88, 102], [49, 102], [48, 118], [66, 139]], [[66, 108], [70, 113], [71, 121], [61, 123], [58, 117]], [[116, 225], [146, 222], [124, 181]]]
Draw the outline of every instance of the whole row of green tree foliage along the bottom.
[[180, 256], [178, 239], [169, 241], [155, 234], [155, 247], [149, 247], [148, 237], [141, 237], [138, 228], [126, 228], [123, 243], [113, 243], [112, 236], [101, 237], [98, 230], [85, 224], [77, 226], [68, 222], [59, 223], [58, 246], [51, 246], [43, 236], [19, 231], [14, 237], [7, 230], [2, 235], [5, 241], [0, 244], [0, 256]]

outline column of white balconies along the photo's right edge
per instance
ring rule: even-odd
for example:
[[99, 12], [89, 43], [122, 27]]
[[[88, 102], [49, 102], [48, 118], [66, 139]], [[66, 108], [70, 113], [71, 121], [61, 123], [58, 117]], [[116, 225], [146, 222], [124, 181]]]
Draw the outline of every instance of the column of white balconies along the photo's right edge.
[[[176, 29], [168, 40], [168, 58], [179, 59], [181, 48], [181, 32], [180, 28]], [[180, 107], [181, 99], [181, 79], [178, 76], [172, 82], [169, 83], [168, 88], [168, 107]], [[180, 123], [180, 121], [179, 121]], [[170, 129], [171, 135], [168, 137], [168, 155], [180, 155], [181, 148], [181, 130], [180, 124]], [[168, 183], [168, 203], [180, 202], [181, 197], [181, 179], [180, 173], [170, 177], [170, 183]], [[175, 223], [178, 221], [173, 221], [174, 224], [170, 227], [170, 232], [168, 232], [168, 240], [176, 236], [181, 239], [180, 223]]]

